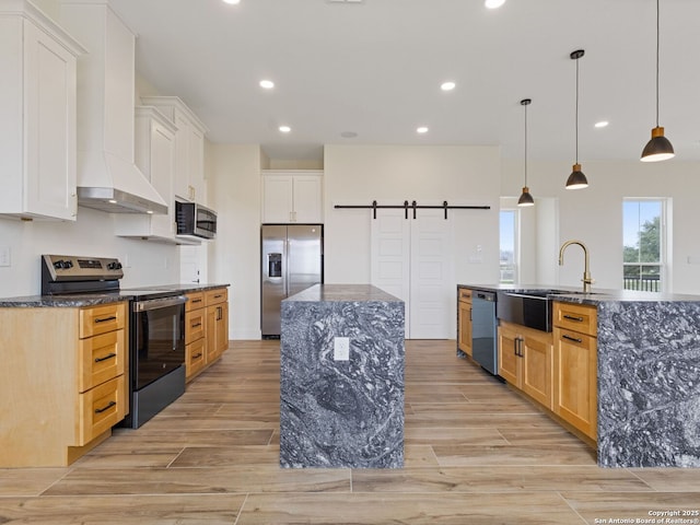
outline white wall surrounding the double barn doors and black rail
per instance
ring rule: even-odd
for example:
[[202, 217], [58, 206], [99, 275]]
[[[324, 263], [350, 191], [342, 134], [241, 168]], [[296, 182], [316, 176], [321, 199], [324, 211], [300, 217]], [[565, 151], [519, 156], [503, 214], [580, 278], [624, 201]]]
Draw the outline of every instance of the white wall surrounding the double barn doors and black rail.
[[450, 211], [455, 284], [498, 281], [498, 148], [326, 145], [324, 164], [327, 283], [370, 282], [372, 212], [334, 206], [373, 200], [490, 206], [490, 210]]

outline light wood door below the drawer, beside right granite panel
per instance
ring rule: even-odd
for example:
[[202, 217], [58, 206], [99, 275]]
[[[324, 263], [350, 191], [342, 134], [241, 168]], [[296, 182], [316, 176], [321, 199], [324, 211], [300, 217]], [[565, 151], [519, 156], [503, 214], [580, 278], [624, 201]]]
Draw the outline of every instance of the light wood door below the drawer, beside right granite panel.
[[596, 438], [596, 339], [555, 327], [553, 411], [586, 435]]

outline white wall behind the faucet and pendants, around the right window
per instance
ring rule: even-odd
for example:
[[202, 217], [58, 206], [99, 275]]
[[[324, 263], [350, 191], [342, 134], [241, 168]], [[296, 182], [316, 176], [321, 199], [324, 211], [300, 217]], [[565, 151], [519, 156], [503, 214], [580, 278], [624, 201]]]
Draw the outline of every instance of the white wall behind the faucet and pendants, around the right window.
[[[528, 183], [537, 197], [558, 201], [558, 245], [564, 241], [583, 241], [591, 253], [591, 272], [595, 287], [619, 289], [622, 282], [622, 199], [625, 197], [672, 198], [669, 220], [673, 224], [672, 288], [676, 293], [700, 293], [700, 260], [697, 224], [700, 223], [700, 163], [667, 161], [664, 163], [584, 162], [583, 172], [590, 187], [567, 190], [571, 164], [564, 162], [530, 162]], [[522, 166], [504, 161], [501, 172], [503, 195], [520, 195]], [[552, 255], [557, 259], [558, 249]], [[551, 260], [535, 256], [523, 264], [535, 265], [538, 276], [551, 275], [544, 266]], [[542, 266], [544, 265], [544, 266]], [[583, 275], [583, 255], [576, 246], [568, 248], [564, 266], [555, 270], [557, 282], [579, 287]]]

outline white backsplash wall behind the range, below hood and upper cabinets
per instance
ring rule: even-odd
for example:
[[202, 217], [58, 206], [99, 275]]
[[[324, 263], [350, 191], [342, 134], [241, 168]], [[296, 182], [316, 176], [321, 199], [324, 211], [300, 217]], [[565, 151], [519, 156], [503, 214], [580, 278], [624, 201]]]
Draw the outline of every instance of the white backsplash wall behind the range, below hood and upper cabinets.
[[11, 266], [0, 267], [0, 298], [39, 293], [42, 254], [118, 257], [127, 264], [122, 288], [179, 282], [175, 245], [116, 237], [114, 219], [80, 207], [74, 223], [0, 219], [0, 246], [11, 252]]

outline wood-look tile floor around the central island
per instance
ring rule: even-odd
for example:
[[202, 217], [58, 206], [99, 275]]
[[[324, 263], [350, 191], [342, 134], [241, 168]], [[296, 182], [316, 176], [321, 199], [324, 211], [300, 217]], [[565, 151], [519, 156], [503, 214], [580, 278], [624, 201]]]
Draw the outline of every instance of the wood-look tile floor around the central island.
[[565, 525], [700, 510], [700, 469], [598, 468], [454, 340], [406, 352], [402, 469], [281, 469], [279, 342], [233, 341], [141, 429], [67, 468], [0, 469], [0, 524]]

